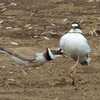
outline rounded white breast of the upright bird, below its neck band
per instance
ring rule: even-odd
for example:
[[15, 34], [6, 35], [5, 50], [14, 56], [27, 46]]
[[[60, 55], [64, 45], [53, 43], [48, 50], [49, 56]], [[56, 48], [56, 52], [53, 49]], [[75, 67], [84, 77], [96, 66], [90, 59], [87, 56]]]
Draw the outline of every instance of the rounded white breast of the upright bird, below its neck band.
[[82, 34], [68, 33], [61, 37], [60, 48], [67, 55], [84, 56], [90, 52], [86, 38]]

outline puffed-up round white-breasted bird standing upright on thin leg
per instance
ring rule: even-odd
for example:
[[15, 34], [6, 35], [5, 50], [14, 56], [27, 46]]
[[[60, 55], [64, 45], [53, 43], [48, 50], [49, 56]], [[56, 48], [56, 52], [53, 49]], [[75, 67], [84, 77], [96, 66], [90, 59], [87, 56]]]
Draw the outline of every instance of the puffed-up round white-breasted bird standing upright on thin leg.
[[70, 77], [72, 78], [72, 84], [74, 85], [78, 64], [88, 65], [91, 61], [89, 57], [91, 47], [79, 23], [73, 22], [71, 24], [71, 29], [60, 38], [59, 52], [63, 52], [64, 56], [71, 57], [76, 62], [69, 71]]

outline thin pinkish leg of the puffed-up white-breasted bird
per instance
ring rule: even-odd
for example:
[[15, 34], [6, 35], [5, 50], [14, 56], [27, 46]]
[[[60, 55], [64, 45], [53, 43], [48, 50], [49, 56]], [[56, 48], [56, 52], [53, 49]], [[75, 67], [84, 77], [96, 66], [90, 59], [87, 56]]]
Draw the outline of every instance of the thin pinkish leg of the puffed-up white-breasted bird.
[[79, 64], [79, 56], [77, 57], [76, 63], [70, 68], [69, 71], [69, 76], [72, 79], [72, 85], [75, 85], [76, 83], [75, 75], [76, 75], [78, 64]]

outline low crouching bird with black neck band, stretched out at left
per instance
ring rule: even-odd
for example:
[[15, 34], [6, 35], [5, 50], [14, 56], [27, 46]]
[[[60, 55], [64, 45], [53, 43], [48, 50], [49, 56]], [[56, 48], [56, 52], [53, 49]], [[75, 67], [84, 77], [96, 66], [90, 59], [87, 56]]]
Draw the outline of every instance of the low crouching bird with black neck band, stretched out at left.
[[29, 65], [29, 64], [44, 64], [48, 61], [54, 60], [55, 58], [59, 57], [61, 53], [58, 54], [58, 50], [56, 49], [50, 49], [46, 48], [42, 52], [36, 52], [32, 55], [31, 58], [21, 56], [17, 53], [14, 53], [14, 51], [9, 50], [8, 48], [0, 47], [0, 52], [7, 54], [10, 56], [17, 64], [20, 65]]

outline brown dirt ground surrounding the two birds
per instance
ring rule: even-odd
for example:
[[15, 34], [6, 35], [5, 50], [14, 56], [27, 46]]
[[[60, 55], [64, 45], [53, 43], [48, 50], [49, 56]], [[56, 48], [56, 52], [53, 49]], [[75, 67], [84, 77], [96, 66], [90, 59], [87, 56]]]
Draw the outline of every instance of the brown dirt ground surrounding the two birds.
[[[100, 1], [0, 0], [0, 47], [32, 56], [57, 47], [59, 37], [73, 21], [80, 21], [86, 34], [99, 29]], [[70, 58], [24, 66], [1, 53], [0, 100], [100, 100], [100, 37], [87, 38], [93, 50], [92, 62], [79, 65], [77, 87], [68, 77], [68, 69], [75, 63]]]

